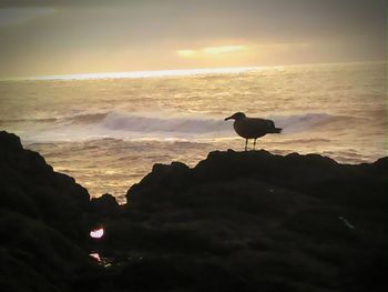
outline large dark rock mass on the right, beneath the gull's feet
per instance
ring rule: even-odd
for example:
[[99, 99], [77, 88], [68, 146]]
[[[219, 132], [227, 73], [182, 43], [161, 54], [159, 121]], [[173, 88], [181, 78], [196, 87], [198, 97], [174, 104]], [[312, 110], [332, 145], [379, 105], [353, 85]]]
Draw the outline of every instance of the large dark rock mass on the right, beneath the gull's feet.
[[228, 150], [193, 169], [157, 164], [111, 225], [108, 244], [143, 259], [126, 262], [119, 278], [136, 279], [120, 288], [155, 291], [151, 275], [165, 290], [382, 291], [387, 161]]

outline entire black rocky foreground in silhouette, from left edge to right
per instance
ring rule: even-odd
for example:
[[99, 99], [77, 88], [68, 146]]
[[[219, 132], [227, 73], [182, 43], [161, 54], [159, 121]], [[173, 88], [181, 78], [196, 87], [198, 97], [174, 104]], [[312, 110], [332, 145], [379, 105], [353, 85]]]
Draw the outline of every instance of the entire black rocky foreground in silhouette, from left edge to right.
[[[83, 188], [52, 172], [14, 135], [0, 133], [0, 149], [2, 286], [388, 288], [388, 158], [346, 165], [317, 154], [216, 151], [193, 169], [180, 162], [155, 164], [129, 190], [127, 204], [119, 207], [109, 194], [89, 202]], [[105, 228], [104, 238], [85, 242], [95, 223]], [[88, 249], [105, 256], [106, 268], [95, 268]], [[64, 255], [69, 251], [72, 256]]]

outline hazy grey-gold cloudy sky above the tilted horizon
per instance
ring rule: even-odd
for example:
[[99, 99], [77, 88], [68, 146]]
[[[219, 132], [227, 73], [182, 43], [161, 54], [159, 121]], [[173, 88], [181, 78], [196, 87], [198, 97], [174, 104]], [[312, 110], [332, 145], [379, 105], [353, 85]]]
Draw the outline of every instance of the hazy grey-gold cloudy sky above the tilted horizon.
[[385, 0], [0, 0], [0, 78], [382, 61]]

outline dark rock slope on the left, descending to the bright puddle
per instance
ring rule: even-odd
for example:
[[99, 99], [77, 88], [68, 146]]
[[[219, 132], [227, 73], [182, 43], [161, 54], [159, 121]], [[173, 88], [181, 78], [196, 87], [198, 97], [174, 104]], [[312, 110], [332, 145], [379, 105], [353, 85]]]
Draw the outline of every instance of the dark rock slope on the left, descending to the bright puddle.
[[85, 250], [89, 193], [20, 139], [0, 132], [2, 291], [70, 291], [96, 271]]

